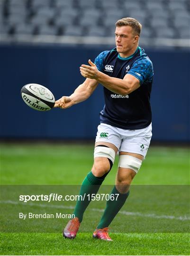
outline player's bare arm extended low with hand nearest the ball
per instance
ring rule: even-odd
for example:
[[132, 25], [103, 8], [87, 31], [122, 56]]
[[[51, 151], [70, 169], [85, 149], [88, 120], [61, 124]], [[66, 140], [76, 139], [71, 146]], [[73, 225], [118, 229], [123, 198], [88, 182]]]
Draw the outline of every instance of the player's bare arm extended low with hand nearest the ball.
[[98, 82], [95, 79], [87, 78], [70, 96], [63, 96], [55, 101], [54, 108], [67, 109], [74, 104], [87, 100], [97, 86]]

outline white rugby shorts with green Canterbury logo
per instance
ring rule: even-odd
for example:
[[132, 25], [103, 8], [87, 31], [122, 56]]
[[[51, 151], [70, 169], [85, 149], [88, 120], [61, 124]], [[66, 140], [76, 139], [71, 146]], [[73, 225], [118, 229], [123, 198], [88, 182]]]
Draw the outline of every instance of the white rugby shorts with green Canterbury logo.
[[96, 142], [114, 144], [118, 151], [145, 155], [152, 137], [152, 123], [143, 129], [126, 130], [101, 123], [98, 126]]

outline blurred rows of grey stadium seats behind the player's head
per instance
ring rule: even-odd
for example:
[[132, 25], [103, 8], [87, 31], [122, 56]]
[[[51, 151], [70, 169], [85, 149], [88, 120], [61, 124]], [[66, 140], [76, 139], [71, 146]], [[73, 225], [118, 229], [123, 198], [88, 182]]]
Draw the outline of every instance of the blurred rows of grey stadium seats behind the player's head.
[[134, 17], [142, 37], [189, 38], [189, 0], [0, 0], [1, 33], [113, 36], [119, 18]]

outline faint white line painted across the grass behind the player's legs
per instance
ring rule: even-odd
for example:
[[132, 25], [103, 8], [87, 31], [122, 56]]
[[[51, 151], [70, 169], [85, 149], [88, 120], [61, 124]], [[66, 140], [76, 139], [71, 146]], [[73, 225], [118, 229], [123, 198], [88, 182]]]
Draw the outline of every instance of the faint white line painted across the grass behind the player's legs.
[[[73, 206], [66, 206], [66, 205], [46, 205], [46, 204], [37, 204], [37, 203], [19, 203], [16, 201], [1, 201], [0, 203], [5, 203], [5, 204], [20, 204], [20, 205], [28, 205], [28, 206], [37, 206], [37, 207], [42, 207], [42, 208], [56, 208], [56, 209], [74, 209]], [[97, 209], [97, 208], [92, 208], [90, 210], [93, 211], [98, 211], [98, 212], [103, 212], [104, 209]], [[127, 216], [137, 216], [137, 217], [145, 217], [145, 218], [153, 218], [153, 219], [177, 219], [177, 220], [190, 220], [190, 217], [188, 216], [171, 216], [171, 215], [156, 215], [155, 213], [150, 213], [150, 214], [144, 214], [141, 212], [130, 212], [130, 211], [125, 211], [121, 210], [119, 211], [120, 214], [127, 215]]]

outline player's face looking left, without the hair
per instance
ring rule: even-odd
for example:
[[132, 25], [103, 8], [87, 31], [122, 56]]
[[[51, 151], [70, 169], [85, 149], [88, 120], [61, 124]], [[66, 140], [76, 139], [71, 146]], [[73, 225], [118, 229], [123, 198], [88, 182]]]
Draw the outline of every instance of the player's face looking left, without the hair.
[[134, 35], [130, 26], [116, 27], [115, 34], [118, 53], [127, 53], [137, 43], [138, 37]]

